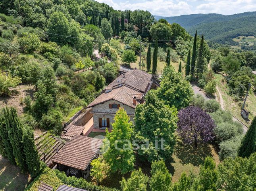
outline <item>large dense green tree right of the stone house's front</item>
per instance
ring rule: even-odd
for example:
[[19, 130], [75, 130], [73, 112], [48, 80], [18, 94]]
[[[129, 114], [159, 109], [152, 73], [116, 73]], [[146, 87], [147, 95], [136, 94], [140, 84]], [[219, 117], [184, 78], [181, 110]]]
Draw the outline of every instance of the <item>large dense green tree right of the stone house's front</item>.
[[[164, 105], [154, 91], [149, 91], [145, 97], [145, 104], [136, 106], [134, 120], [135, 139], [141, 140], [139, 155], [145, 156], [150, 162], [168, 159], [175, 145], [176, 108]], [[144, 140], [149, 142], [147, 148], [143, 147]]]

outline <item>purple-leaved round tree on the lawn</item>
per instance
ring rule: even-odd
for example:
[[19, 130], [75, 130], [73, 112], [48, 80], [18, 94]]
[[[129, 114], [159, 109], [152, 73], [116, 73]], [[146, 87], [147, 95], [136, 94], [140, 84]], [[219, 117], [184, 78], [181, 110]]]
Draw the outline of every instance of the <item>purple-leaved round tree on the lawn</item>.
[[179, 110], [177, 132], [185, 143], [197, 147], [200, 142], [214, 139], [213, 129], [216, 126], [212, 117], [199, 107], [189, 106]]

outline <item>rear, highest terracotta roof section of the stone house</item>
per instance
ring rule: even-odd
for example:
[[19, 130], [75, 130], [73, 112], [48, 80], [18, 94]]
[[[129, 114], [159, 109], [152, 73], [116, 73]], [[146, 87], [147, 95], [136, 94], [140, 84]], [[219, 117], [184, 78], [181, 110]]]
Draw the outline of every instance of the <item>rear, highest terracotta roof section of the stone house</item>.
[[142, 70], [131, 70], [124, 74], [124, 78], [123, 74], [121, 74], [118, 78], [112, 81], [108, 85], [108, 87], [115, 87], [119, 85], [119, 80], [122, 83], [122, 85], [126, 85], [128, 87], [132, 87], [134, 89], [137, 89], [138, 91], [146, 93], [148, 83], [150, 83], [152, 75]]

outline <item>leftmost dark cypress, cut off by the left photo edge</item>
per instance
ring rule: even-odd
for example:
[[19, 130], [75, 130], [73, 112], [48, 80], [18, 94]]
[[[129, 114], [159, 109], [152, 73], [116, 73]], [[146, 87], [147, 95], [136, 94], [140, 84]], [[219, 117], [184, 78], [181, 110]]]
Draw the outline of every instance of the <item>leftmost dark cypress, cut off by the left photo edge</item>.
[[6, 129], [6, 120], [5, 120], [5, 115], [2, 111], [0, 115], [0, 138], [2, 141], [2, 147], [3, 147], [3, 152], [1, 153], [4, 157], [7, 157], [9, 162], [13, 165], [15, 165], [15, 159], [13, 156], [13, 148], [12, 144], [10, 142], [9, 136], [8, 136], [8, 130]]

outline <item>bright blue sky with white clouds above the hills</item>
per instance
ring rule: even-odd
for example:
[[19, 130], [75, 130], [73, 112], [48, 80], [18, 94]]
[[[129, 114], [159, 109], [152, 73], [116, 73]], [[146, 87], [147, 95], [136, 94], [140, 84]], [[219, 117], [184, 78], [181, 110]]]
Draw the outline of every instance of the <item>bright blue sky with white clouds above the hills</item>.
[[256, 11], [256, 0], [96, 0], [116, 10], [148, 10], [152, 15], [179, 16], [194, 13], [232, 15]]

